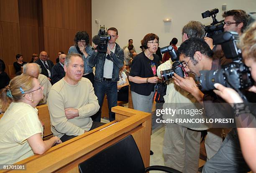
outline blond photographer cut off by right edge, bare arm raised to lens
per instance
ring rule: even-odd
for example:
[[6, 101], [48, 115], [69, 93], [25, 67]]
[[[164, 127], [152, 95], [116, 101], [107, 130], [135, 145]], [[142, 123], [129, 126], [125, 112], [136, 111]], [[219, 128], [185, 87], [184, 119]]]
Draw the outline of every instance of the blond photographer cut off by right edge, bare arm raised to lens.
[[[246, 66], [251, 71], [251, 76], [256, 81], [256, 22], [241, 36], [240, 47], [243, 53], [243, 59]], [[231, 88], [227, 88], [221, 84], [214, 84], [216, 90], [214, 92], [222, 97], [226, 102], [230, 103], [235, 110], [236, 124], [242, 128], [237, 128], [241, 150], [246, 163], [253, 172], [256, 172], [256, 118], [248, 109], [248, 105], [243, 101], [240, 95]], [[254, 84], [249, 91], [256, 92]], [[244, 118], [248, 119], [244, 119]], [[245, 120], [245, 121], [244, 121]], [[248, 124], [251, 120], [251, 124]], [[253, 128], [243, 128], [253, 127]]]

